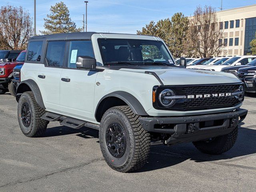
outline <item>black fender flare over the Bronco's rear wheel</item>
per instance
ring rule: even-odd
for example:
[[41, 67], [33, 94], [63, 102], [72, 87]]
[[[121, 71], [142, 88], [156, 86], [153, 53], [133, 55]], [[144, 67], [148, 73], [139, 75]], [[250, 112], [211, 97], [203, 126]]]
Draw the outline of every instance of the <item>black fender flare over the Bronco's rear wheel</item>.
[[38, 85], [36, 84], [36, 82], [32, 79], [28, 79], [28, 80], [24, 80], [22, 82], [19, 83], [17, 90], [16, 90], [16, 100], [18, 101], [21, 94], [28, 91], [27, 86], [30, 88], [30, 90], [33, 92], [36, 102], [38, 103], [38, 105], [43, 108], [46, 109], [44, 106], [44, 101], [42, 98], [42, 94], [40, 92], [40, 89], [38, 87]]

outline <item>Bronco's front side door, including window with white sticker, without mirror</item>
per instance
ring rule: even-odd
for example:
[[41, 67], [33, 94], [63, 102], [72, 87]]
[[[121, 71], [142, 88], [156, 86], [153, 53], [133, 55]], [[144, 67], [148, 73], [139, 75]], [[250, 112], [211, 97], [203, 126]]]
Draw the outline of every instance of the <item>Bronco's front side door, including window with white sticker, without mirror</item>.
[[76, 68], [77, 56], [94, 57], [90, 40], [68, 42], [67, 66], [60, 81], [60, 108], [64, 115], [88, 121], [94, 118], [94, 88], [97, 72]]

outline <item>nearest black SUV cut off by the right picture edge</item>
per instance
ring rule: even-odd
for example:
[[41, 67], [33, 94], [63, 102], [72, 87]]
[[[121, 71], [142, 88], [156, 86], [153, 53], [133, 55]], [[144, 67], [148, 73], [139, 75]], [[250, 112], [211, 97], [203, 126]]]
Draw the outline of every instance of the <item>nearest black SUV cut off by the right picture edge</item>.
[[256, 59], [249, 64], [248, 67], [238, 69], [236, 75], [244, 82], [246, 92], [256, 93]]

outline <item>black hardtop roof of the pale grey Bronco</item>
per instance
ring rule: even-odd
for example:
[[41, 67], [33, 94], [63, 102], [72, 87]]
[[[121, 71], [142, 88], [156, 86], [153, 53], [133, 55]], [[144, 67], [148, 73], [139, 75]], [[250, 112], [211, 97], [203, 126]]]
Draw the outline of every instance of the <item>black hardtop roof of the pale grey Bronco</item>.
[[[73, 39], [91, 39], [93, 34], [117, 34], [117, 33], [98, 33], [98, 32], [76, 32], [76, 33], [57, 33], [51, 35], [33, 36], [30, 40], [46, 38], [47, 40], [73, 40]], [[128, 35], [128, 34], [126, 34]], [[136, 35], [136, 34], [129, 34]]]

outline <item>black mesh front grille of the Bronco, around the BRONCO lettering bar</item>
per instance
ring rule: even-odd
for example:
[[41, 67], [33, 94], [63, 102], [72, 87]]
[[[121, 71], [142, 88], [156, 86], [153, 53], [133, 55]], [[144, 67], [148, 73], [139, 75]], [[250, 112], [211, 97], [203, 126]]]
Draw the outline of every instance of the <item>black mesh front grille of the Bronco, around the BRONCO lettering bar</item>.
[[[199, 94], [221, 94], [236, 92], [243, 83], [237, 84], [212, 84], [212, 85], [180, 85], [180, 86], [162, 86], [156, 88], [156, 95], [166, 88], [170, 88], [175, 95], [188, 96]], [[175, 104], [169, 108], [161, 106], [160, 102], [153, 104], [154, 108], [162, 110], [207, 110], [214, 108], [228, 108], [241, 103], [236, 96], [217, 96], [204, 98], [184, 98], [176, 99]]]

